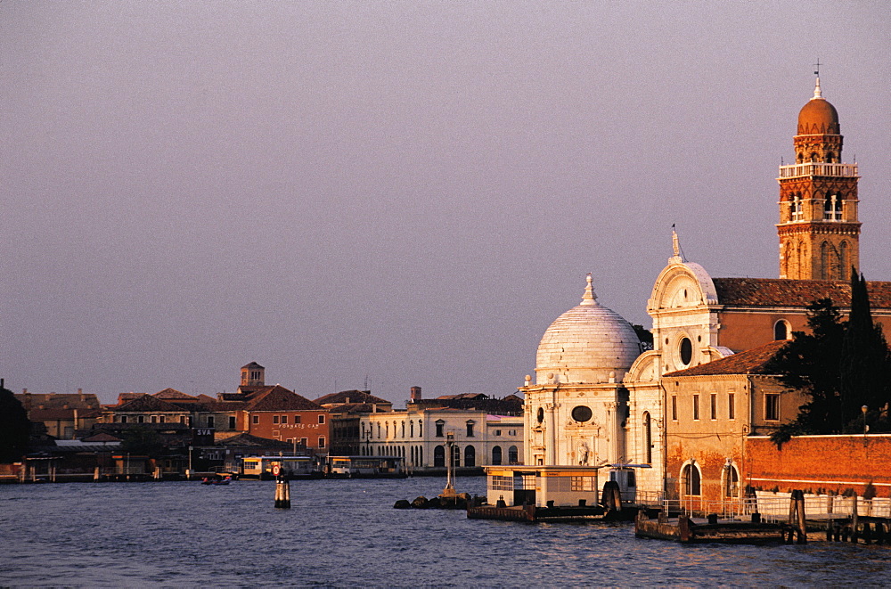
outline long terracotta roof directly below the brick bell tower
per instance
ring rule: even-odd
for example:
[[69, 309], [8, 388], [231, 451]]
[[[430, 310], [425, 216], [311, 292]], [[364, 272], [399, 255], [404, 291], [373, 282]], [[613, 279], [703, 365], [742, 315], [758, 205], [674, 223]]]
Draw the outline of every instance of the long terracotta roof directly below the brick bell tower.
[[[714, 278], [718, 303], [747, 307], [802, 307], [816, 299], [851, 306], [851, 283], [845, 280], [787, 278]], [[891, 309], [891, 282], [866, 282], [872, 308]]]

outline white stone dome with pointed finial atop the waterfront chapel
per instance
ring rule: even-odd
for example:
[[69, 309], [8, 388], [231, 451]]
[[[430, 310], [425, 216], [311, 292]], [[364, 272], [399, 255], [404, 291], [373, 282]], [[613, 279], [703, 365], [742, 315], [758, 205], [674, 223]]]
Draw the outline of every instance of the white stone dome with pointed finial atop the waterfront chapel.
[[544, 331], [535, 358], [536, 381], [620, 382], [640, 354], [634, 327], [597, 302], [588, 274], [581, 304]]

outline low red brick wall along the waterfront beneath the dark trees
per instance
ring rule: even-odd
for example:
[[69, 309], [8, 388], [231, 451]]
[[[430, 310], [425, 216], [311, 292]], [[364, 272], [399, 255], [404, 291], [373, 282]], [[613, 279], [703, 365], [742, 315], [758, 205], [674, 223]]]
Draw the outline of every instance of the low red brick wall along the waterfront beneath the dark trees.
[[747, 483], [780, 491], [802, 489], [862, 495], [872, 483], [879, 497], [891, 496], [891, 435], [801, 436], [778, 450], [770, 438], [746, 439]]

